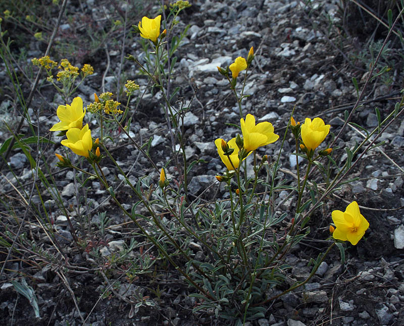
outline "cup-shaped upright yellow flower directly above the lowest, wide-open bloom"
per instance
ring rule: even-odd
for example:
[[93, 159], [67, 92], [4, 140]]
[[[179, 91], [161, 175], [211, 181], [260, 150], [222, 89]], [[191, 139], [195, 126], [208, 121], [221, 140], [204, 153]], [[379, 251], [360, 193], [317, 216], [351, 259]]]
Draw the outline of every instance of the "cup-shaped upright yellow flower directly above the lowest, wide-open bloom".
[[307, 149], [315, 150], [330, 132], [330, 125], [324, 124], [323, 119], [314, 118], [313, 122], [310, 118], [306, 118], [305, 123], [301, 125], [301, 140]]

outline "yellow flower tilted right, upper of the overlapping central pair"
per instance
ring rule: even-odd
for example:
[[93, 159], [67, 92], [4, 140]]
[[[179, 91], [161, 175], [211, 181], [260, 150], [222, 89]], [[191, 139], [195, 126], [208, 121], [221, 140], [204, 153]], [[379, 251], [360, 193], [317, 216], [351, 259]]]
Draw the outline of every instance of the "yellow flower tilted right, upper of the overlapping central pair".
[[250, 114], [245, 117], [245, 122], [241, 118], [240, 124], [246, 151], [256, 150], [258, 147], [271, 144], [279, 138], [279, 135], [274, 134], [274, 127], [270, 122], [260, 122], [256, 125], [256, 119]]

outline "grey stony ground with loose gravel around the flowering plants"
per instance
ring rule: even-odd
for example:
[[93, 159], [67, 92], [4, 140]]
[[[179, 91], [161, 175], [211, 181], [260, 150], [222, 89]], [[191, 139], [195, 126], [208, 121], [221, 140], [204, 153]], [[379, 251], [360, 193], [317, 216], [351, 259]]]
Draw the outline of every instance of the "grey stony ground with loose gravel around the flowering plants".
[[[331, 131], [337, 134], [343, 123], [344, 111], [349, 111], [357, 98], [352, 77], [357, 78], [360, 88], [367, 78], [371, 60], [370, 55], [366, 54], [369, 45], [367, 42], [374, 39], [381, 44], [380, 40], [383, 41], [383, 36], [386, 35], [382, 27], [377, 30], [373, 28], [375, 33], [372, 35], [368, 28], [369, 25], [373, 26], [374, 22], [366, 15], [358, 18], [364, 20], [363, 29], [357, 28], [357, 24], [361, 24], [355, 20], [357, 16], [352, 8], [349, 12], [352, 16], [348, 17], [352, 20], [351, 23], [344, 23], [341, 18], [343, 15], [338, 12], [341, 9], [337, 1], [312, 2], [310, 7], [306, 6], [305, 2], [286, 0], [198, 0], [191, 3], [192, 7], [180, 15], [177, 25], [178, 29], [185, 28], [186, 25], [190, 27], [176, 52], [178, 61], [173, 73], [173, 87], [181, 87], [179, 96], [185, 101], [189, 101], [194, 89], [197, 89], [191, 111], [184, 121], [188, 139], [186, 150], [190, 158], [202, 158], [207, 163], [195, 166], [192, 171], [189, 192], [193, 195], [199, 195], [211, 187], [216, 182], [215, 175], [223, 172], [214, 140], [218, 137], [234, 137], [237, 130], [226, 124], [239, 122], [238, 106], [227, 80], [218, 73], [217, 66], [226, 67], [238, 56], [246, 57], [250, 46], [254, 46], [256, 58], [246, 83], [246, 94], [251, 96], [243, 101], [244, 114], [251, 113], [260, 121], [270, 121], [275, 132], [283, 135], [291, 110], [295, 106], [296, 121], [319, 116], [331, 124]], [[154, 17], [157, 7], [153, 4], [147, 5], [148, 16]], [[108, 2], [95, 4], [94, 1], [87, 0], [79, 3], [72, 1], [68, 4], [67, 12], [70, 15], [85, 15], [88, 21], [92, 19], [102, 22], [105, 15], [116, 14], [117, 11], [125, 12], [125, 9], [123, 3], [112, 6]], [[132, 23], [136, 24], [141, 16], [146, 14], [139, 14]], [[79, 33], [77, 24], [75, 20], [64, 19], [59, 37]], [[130, 25], [128, 24], [128, 27]], [[139, 74], [135, 66], [125, 60], [121, 66], [122, 52], [125, 56], [130, 53], [134, 57], [142, 58], [139, 37], [128, 34], [123, 49], [122, 37], [121, 30], [115, 39], [109, 40], [104, 47], [96, 49], [91, 55], [87, 53], [79, 56], [79, 53], [75, 53], [76, 56], [69, 58], [77, 65], [91, 64], [96, 73], [89, 77], [75, 94], [83, 98], [84, 105], [93, 101], [93, 93], [104, 90], [101, 85], [104, 85], [106, 91], [115, 92], [120, 77], [121, 86], [122, 81], [133, 79], [141, 86], [141, 91], [146, 89], [147, 80]], [[43, 55], [43, 44], [38, 47], [36, 40], [32, 39], [27, 46], [27, 62]], [[352, 117], [352, 122], [368, 131], [377, 126], [375, 107], [379, 108], [382, 119], [385, 118], [399, 101], [399, 91], [403, 85], [402, 59], [397, 54], [402, 51], [402, 44], [392, 38], [389, 46], [389, 53], [381, 60], [383, 65], [386, 64], [392, 69], [370, 82], [365, 90], [362, 106]], [[77, 62], [74, 62], [75, 58]], [[18, 69], [16, 67], [16, 71]], [[4, 71], [0, 74], [2, 80], [7, 79]], [[29, 92], [29, 85], [28, 82], [23, 84], [27, 87], [24, 90], [26, 93]], [[35, 100], [29, 114], [34, 124], [40, 122], [40, 132], [45, 134], [58, 122], [55, 108], [62, 104], [63, 100], [46, 84], [42, 84], [38, 91], [39, 93], [34, 95]], [[4, 119], [13, 122], [14, 98], [4, 93], [1, 96]], [[133, 112], [134, 119], [130, 131], [131, 135], [139, 135], [143, 143], [153, 137], [150, 153], [156, 158], [156, 165], [162, 167], [170, 158], [171, 142], [167, 137], [165, 118], [159, 103], [160, 94], [147, 90], [140, 105]], [[22, 131], [28, 131], [27, 125]], [[153, 169], [145, 168], [143, 158], [138, 156], [133, 145], [128, 145], [124, 134], [112, 131], [112, 135], [114, 143], [110, 144], [111, 150], [116, 155], [120, 167], [130, 171], [133, 181], [143, 175], [158, 179], [158, 174]], [[3, 142], [9, 136], [10, 133], [2, 126], [0, 140]], [[341, 150], [336, 150], [334, 159], [344, 159], [343, 148], [353, 147], [363, 138], [364, 131], [359, 128], [352, 126], [346, 129], [336, 143]], [[56, 164], [53, 153], [62, 150], [58, 138], [54, 140], [55, 145], [42, 149], [46, 152], [45, 155], [48, 155], [48, 162], [52, 167]], [[266, 317], [251, 321], [249, 325], [404, 324], [404, 122], [401, 122], [401, 119], [393, 122], [380, 137], [379, 141], [382, 140], [385, 143], [370, 151], [352, 171], [351, 177], [359, 177], [359, 180], [343, 185], [337, 192], [338, 197], [330, 198], [327, 204], [327, 209], [331, 211], [342, 209], [347, 202], [357, 200], [362, 207], [361, 212], [370, 223], [366, 239], [360, 241], [357, 246], [347, 246], [345, 263], [340, 262], [339, 252], [333, 251], [322, 263], [316, 276], [306, 284], [305, 289], [268, 304]], [[274, 156], [279, 151], [279, 146], [277, 143], [263, 148], [259, 154]], [[282, 173], [286, 179], [292, 178], [290, 173], [295, 171], [291, 159], [294, 156], [290, 155], [292, 151], [292, 138], [287, 137], [281, 155]], [[11, 237], [17, 232], [19, 222], [11, 218], [10, 207], [22, 218], [24, 206], [16, 189], [20, 192], [23, 188], [30, 189], [32, 180], [29, 162], [21, 150], [12, 151], [8, 163], [13, 172], [3, 169], [0, 181], [0, 193], [3, 194], [0, 211], [2, 238]], [[58, 171], [55, 180], [57, 187], [63, 189], [65, 206], [76, 206], [81, 199], [77, 197], [74, 173], [69, 170]], [[122, 186], [119, 173], [107, 162], [104, 172], [109, 182], [114, 185], [117, 196], [127, 199], [129, 205], [130, 198], [127, 189]], [[168, 172], [175, 177], [176, 171], [173, 168], [169, 168]], [[218, 184], [213, 185], [211, 190], [204, 193], [205, 198], [213, 198], [218, 187]], [[131, 227], [125, 225], [127, 221], [115, 213], [116, 207], [108, 192], [102, 189], [99, 183], [92, 182], [86, 196], [87, 202], [92, 202], [88, 209], [94, 219], [97, 216], [99, 219], [96, 212], [105, 211], [110, 216], [111, 226], [120, 226], [110, 228], [107, 236], [109, 247], [104, 247], [106, 254], [121, 250], [122, 242], [128, 239], [127, 236], [132, 231]], [[219, 189], [219, 196], [226, 197], [223, 189]], [[278, 202], [285, 197], [286, 195], [281, 193]], [[49, 218], [55, 221], [59, 241], [65, 247], [63, 256], [68, 259], [60, 261], [59, 265], [45, 265], [35, 258], [32, 258], [34, 262], [30, 261], [29, 254], [18, 256], [16, 253], [9, 258], [0, 280], [0, 319], [4, 320], [5, 324], [231, 324], [230, 321], [220, 320], [203, 312], [192, 314], [195, 299], [188, 296], [187, 287], [169, 278], [172, 276], [169, 272], [160, 276], [164, 279], [161, 280], [161, 286], [164, 288], [161, 296], [151, 292], [144, 294], [154, 300], [156, 308], [143, 306], [138, 313], [130, 317], [131, 306], [125, 303], [122, 297], [113, 294], [101, 297], [107, 286], [103, 275], [95, 273], [95, 266], [90, 266], [86, 256], [73, 249], [72, 235], [66, 220], [63, 219], [64, 216], [60, 216], [55, 199], [51, 195], [45, 195], [44, 199], [44, 207], [49, 212]], [[282, 208], [287, 210], [295, 200], [295, 197], [289, 198]], [[32, 197], [32, 202], [38, 207], [41, 204], [37, 195]], [[324, 243], [314, 239], [328, 237], [329, 211], [323, 210], [313, 216], [310, 222], [312, 241], [302, 242], [288, 256], [287, 262], [294, 266], [292, 278], [300, 280], [307, 276], [311, 271], [311, 267], [308, 267], [310, 257], [316, 257], [319, 249], [324, 248]], [[79, 228], [79, 214], [72, 210], [71, 215]], [[29, 239], [36, 239], [37, 244], [46, 249], [49, 244], [43, 240], [42, 231], [36, 229], [35, 225], [33, 215], [29, 215], [22, 228], [28, 233], [28, 237], [32, 237]], [[11, 234], [7, 234], [9, 231], [6, 230], [9, 229]], [[24, 252], [29, 253], [28, 249]], [[3, 262], [7, 251], [8, 248], [2, 245], [0, 260]], [[33, 254], [32, 257], [34, 256]], [[69, 266], [90, 267], [80, 271], [80, 268], [70, 270]], [[34, 289], [40, 311], [39, 318], [35, 318], [28, 300], [18, 295], [10, 283], [21, 275], [28, 276], [28, 284]], [[119, 275], [115, 277], [118, 278]], [[143, 284], [147, 282], [140, 279], [138, 285]], [[146, 288], [144, 286], [144, 289]]]

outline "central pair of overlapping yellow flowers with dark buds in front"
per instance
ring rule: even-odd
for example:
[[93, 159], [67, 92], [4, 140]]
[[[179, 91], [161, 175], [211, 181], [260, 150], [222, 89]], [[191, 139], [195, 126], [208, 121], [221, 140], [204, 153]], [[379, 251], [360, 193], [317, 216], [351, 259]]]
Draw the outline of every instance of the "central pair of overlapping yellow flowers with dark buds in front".
[[256, 125], [256, 119], [250, 114], [247, 114], [245, 121], [243, 118], [240, 119], [240, 125], [243, 139], [237, 136], [227, 143], [222, 138], [215, 140], [218, 154], [229, 171], [238, 169], [240, 160], [245, 159], [258, 147], [271, 144], [279, 138], [270, 122]]

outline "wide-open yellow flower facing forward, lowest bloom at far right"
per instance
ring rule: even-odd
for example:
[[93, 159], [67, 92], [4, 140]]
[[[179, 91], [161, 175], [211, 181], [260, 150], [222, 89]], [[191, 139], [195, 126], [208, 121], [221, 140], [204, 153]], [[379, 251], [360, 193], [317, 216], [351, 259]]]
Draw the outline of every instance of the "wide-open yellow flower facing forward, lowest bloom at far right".
[[369, 228], [369, 222], [361, 214], [356, 201], [352, 201], [344, 212], [334, 210], [332, 221], [336, 227], [332, 233], [333, 238], [342, 241], [347, 240], [352, 245], [356, 245]]

